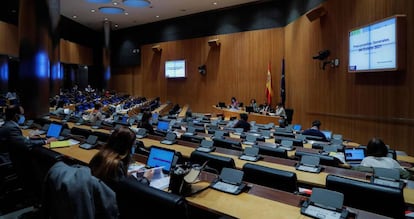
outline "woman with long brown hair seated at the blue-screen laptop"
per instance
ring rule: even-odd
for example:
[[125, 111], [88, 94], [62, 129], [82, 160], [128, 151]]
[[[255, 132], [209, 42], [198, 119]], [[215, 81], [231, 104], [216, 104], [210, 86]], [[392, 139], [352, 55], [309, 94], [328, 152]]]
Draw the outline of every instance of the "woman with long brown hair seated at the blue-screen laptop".
[[[104, 147], [89, 162], [92, 175], [104, 181], [111, 188], [114, 188], [121, 178], [128, 177], [131, 149], [135, 140], [135, 133], [128, 127], [121, 126], [112, 132]], [[149, 184], [152, 176], [153, 171], [148, 170], [143, 176], [137, 176], [137, 180]]]

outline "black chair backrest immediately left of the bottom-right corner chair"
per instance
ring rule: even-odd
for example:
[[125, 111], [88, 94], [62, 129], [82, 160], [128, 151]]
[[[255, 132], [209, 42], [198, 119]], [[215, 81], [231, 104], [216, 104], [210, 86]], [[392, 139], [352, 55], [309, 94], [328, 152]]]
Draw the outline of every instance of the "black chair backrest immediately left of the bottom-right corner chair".
[[297, 191], [296, 173], [273, 169], [252, 163], [245, 163], [242, 168], [244, 181], [287, 191]]

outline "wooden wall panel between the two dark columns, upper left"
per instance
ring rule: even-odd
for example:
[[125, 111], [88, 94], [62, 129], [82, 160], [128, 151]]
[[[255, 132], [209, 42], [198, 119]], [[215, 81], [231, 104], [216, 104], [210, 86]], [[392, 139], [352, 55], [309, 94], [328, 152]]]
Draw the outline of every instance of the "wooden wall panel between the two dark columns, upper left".
[[93, 65], [93, 50], [92, 48], [61, 39], [60, 61], [68, 64]]

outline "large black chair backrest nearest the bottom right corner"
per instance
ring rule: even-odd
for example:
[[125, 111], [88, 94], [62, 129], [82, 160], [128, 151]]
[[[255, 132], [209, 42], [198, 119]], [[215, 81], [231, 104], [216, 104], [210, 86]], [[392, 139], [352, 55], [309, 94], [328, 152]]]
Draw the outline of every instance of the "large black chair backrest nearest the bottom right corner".
[[401, 189], [328, 175], [326, 188], [344, 194], [344, 205], [392, 218], [405, 218], [404, 194]]

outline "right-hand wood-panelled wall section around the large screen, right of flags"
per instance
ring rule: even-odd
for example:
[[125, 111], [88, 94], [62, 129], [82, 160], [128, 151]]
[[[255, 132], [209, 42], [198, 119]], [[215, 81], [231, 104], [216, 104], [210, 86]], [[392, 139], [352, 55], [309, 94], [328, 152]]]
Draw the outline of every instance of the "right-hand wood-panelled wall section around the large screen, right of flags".
[[[409, 0], [328, 0], [327, 14], [310, 22], [301, 17], [285, 27], [287, 101], [294, 122], [308, 127], [320, 119], [325, 129], [366, 144], [378, 136], [392, 148], [414, 155], [413, 43], [407, 41], [402, 72], [347, 72], [348, 31], [395, 14], [407, 15], [407, 39], [413, 38], [414, 3]], [[295, 48], [295, 49], [293, 49]], [[329, 49], [339, 68], [322, 70], [311, 57]], [[295, 51], [305, 54], [295, 55]], [[303, 56], [302, 56], [303, 55]], [[299, 63], [297, 64], [297, 59]], [[293, 74], [300, 74], [294, 77]]]

